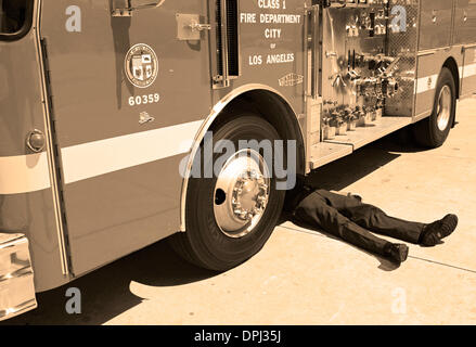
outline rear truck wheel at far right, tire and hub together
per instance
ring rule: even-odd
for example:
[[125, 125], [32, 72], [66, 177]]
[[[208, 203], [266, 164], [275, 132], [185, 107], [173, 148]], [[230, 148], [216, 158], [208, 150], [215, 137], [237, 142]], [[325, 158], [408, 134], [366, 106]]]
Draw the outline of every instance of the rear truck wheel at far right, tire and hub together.
[[456, 113], [456, 87], [450, 69], [443, 67], [438, 78], [432, 116], [415, 124], [419, 144], [436, 149], [448, 139]]

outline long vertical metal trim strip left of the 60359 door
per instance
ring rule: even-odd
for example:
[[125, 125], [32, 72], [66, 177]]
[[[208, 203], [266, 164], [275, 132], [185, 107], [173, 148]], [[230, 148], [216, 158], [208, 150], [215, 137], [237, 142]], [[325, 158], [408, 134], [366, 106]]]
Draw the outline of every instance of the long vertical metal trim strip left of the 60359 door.
[[54, 205], [54, 215], [55, 215], [55, 223], [57, 230], [57, 245], [60, 248], [60, 259], [61, 259], [61, 269], [64, 275], [69, 274], [69, 266], [67, 260], [67, 250], [66, 250], [66, 242], [65, 242], [65, 233], [64, 233], [64, 220], [61, 208], [61, 200], [60, 200], [60, 191], [59, 191], [59, 180], [57, 180], [57, 166], [54, 159], [54, 144], [53, 144], [53, 136], [51, 133], [51, 115], [50, 115], [50, 99], [48, 95], [48, 87], [47, 87], [47, 77], [44, 76], [44, 62], [43, 62], [43, 50], [41, 47], [41, 36], [40, 36], [40, 27], [41, 27], [41, 9], [42, 9], [42, 0], [38, 0], [37, 4], [37, 15], [36, 23], [34, 26], [34, 30], [36, 33], [35, 44], [37, 48], [37, 59], [39, 64], [39, 74], [41, 81], [41, 97], [43, 104], [43, 118], [44, 118], [44, 127], [46, 127], [46, 140], [47, 140], [47, 155], [48, 163], [50, 168], [50, 181], [51, 181], [51, 191], [53, 194], [53, 205]]

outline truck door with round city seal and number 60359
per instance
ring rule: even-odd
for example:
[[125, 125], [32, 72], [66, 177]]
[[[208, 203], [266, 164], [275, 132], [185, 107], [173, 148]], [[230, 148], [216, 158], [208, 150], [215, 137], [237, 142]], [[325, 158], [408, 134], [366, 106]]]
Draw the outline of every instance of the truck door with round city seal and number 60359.
[[179, 163], [209, 114], [206, 21], [203, 0], [43, 1], [75, 274], [178, 231]]

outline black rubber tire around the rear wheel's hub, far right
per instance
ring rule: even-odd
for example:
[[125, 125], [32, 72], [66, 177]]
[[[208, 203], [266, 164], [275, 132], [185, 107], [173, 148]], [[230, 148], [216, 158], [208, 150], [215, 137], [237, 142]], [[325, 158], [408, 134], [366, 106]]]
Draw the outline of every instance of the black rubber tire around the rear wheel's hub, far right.
[[[451, 115], [450, 115], [450, 120], [448, 121], [448, 126], [443, 131], [441, 131], [438, 128], [437, 106], [438, 106], [438, 98], [440, 91], [445, 86], [448, 86], [451, 89], [452, 105], [451, 105]], [[424, 147], [429, 147], [429, 149], [436, 149], [441, 146], [448, 139], [450, 130], [454, 124], [455, 114], [456, 114], [456, 87], [454, 85], [453, 74], [449, 68], [443, 67], [441, 69], [441, 74], [439, 75], [437, 87], [436, 87], [432, 116], [416, 123], [413, 127], [413, 134], [415, 142]]]

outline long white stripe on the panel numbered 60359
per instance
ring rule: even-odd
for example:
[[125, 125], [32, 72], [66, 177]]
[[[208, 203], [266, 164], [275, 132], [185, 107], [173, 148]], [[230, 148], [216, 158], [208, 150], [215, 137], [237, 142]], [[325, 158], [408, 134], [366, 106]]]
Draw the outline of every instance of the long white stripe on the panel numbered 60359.
[[185, 123], [62, 149], [65, 183], [188, 153], [202, 124]]

